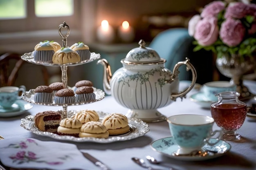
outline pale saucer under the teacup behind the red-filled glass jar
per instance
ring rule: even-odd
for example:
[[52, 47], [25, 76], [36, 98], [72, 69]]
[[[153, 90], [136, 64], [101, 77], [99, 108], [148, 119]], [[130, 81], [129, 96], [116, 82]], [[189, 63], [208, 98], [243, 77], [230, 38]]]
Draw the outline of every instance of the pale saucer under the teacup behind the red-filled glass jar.
[[192, 102], [195, 102], [195, 103], [199, 104], [200, 106], [202, 106], [202, 108], [210, 108], [211, 104], [214, 102], [214, 101], [211, 101], [210, 99], [208, 99], [207, 97], [205, 97], [203, 92], [195, 93], [195, 94], [191, 95], [189, 99]]

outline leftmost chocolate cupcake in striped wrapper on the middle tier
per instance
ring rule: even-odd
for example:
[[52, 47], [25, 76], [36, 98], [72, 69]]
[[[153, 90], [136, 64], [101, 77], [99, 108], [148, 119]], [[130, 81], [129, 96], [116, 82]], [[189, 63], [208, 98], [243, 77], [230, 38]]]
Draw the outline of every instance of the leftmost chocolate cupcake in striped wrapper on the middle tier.
[[38, 86], [35, 89], [34, 101], [36, 103], [52, 103], [54, 94], [49, 86]]

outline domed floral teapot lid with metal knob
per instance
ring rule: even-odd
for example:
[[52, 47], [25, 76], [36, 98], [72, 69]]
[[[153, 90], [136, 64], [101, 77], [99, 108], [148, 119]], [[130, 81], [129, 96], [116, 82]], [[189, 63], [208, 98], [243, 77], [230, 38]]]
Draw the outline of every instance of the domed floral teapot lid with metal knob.
[[151, 49], [150, 47], [145, 47], [146, 42], [144, 40], [139, 41], [139, 47], [130, 50], [124, 62], [131, 63], [157, 63], [162, 62], [163, 59], [159, 57], [159, 54]]

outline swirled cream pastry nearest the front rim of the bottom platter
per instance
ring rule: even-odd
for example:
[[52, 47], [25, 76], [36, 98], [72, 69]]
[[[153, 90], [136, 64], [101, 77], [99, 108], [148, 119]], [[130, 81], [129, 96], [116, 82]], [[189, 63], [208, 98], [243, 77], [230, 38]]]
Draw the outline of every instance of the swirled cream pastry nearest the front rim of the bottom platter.
[[99, 121], [88, 121], [80, 128], [79, 137], [108, 138], [106, 126]]

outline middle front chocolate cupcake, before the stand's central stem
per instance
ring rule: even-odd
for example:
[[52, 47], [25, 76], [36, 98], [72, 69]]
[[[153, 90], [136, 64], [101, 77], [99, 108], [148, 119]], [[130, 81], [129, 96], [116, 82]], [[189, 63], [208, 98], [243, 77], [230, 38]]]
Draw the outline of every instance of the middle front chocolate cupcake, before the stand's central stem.
[[58, 90], [54, 96], [55, 104], [72, 104], [76, 102], [74, 91], [69, 88]]

